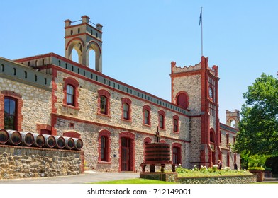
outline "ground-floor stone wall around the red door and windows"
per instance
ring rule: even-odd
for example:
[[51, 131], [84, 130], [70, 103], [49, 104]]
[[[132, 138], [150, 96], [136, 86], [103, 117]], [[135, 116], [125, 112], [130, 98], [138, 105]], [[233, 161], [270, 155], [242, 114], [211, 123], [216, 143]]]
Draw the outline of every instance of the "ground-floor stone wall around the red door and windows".
[[[79, 132], [81, 135], [80, 138], [84, 141], [84, 161], [86, 161], [87, 166], [90, 169], [96, 169], [98, 171], [105, 171], [105, 172], [118, 172], [120, 166], [120, 145], [119, 145], [119, 136], [121, 132], [127, 132], [123, 129], [118, 129], [115, 127], [109, 126], [101, 126], [98, 124], [90, 124], [90, 123], [82, 123], [82, 122], [74, 122], [72, 120], [65, 120], [62, 118], [57, 119], [57, 135], [62, 135], [70, 123], [74, 124], [74, 129], [72, 131]], [[99, 132], [102, 130], [107, 130], [111, 133], [111, 144], [110, 144], [110, 162], [102, 162], [99, 161]], [[140, 132], [130, 132], [135, 134], [135, 156], [134, 156], [134, 163], [135, 163], [135, 170], [133, 171], [140, 171], [140, 163], [144, 161], [144, 139], [150, 138], [152, 142], [154, 142], [154, 134], [147, 134], [147, 133], [140, 133]], [[172, 149], [173, 143], [179, 143], [182, 145], [182, 165], [189, 164], [189, 143], [184, 143], [182, 141], [174, 141], [172, 139], [162, 138], [161, 140], [166, 141], [166, 143], [170, 144]], [[172, 152], [171, 152], [172, 155]], [[172, 158], [172, 156], [171, 156]], [[171, 170], [171, 167], [167, 166], [167, 169]], [[148, 167], [147, 167], [148, 169]]]

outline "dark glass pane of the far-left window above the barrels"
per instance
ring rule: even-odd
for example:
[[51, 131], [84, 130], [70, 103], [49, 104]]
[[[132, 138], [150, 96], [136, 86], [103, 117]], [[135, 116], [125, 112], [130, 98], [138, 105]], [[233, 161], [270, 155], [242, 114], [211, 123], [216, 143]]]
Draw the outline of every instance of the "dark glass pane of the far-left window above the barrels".
[[4, 100], [4, 129], [16, 130], [17, 100], [10, 97]]

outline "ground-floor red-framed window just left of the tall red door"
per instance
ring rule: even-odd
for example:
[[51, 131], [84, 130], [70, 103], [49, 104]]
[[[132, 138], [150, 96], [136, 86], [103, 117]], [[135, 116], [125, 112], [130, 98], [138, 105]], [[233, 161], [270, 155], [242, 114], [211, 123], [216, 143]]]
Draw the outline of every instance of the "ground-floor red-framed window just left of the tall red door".
[[111, 133], [104, 129], [99, 132], [99, 138], [98, 138], [98, 153], [99, 153], [99, 158], [98, 158], [98, 163], [111, 163], [111, 138], [110, 138]]

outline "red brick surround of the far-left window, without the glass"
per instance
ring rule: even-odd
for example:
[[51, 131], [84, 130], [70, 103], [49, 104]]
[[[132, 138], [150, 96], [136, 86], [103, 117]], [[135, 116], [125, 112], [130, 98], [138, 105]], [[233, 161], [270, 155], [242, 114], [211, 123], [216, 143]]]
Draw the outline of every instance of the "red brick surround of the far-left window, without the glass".
[[0, 93], [0, 128], [4, 129], [4, 106], [5, 106], [5, 97], [14, 98], [16, 100], [16, 130], [22, 131], [22, 107], [23, 100], [22, 96], [16, 92], [4, 90]]

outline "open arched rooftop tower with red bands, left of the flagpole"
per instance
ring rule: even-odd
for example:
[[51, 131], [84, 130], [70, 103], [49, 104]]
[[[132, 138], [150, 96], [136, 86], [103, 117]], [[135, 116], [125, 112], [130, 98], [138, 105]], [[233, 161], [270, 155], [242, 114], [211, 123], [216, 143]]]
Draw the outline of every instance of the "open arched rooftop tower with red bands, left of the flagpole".
[[102, 72], [102, 25], [94, 25], [89, 19], [82, 16], [81, 23], [65, 21], [65, 57], [72, 60], [72, 50], [76, 50], [79, 64], [89, 66], [89, 51], [94, 50], [95, 66], [92, 69]]

